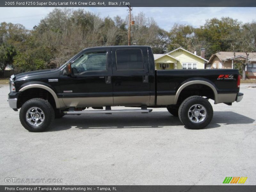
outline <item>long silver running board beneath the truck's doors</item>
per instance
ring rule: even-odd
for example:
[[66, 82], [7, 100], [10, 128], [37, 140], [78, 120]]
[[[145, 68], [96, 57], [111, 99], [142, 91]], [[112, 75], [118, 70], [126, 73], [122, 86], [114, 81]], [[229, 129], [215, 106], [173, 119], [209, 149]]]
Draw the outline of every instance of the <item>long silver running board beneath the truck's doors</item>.
[[112, 113], [149, 113], [152, 109], [127, 109], [127, 110], [93, 110], [93, 111], [64, 111], [65, 115], [81, 114], [112, 114]]

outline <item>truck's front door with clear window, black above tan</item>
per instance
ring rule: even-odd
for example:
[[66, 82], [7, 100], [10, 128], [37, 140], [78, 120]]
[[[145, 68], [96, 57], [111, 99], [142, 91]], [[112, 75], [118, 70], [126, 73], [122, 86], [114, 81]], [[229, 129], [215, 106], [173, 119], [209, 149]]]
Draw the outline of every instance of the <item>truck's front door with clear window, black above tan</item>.
[[60, 94], [65, 105], [68, 107], [113, 105], [111, 49], [108, 47], [86, 49], [71, 63], [73, 75], [60, 75]]

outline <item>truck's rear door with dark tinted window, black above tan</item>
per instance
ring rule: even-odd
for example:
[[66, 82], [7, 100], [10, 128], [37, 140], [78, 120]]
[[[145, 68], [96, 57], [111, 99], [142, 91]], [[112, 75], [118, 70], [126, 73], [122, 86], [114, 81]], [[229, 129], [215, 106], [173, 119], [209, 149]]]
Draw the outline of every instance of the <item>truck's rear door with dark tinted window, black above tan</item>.
[[150, 85], [147, 47], [112, 47], [114, 105], [149, 105]]

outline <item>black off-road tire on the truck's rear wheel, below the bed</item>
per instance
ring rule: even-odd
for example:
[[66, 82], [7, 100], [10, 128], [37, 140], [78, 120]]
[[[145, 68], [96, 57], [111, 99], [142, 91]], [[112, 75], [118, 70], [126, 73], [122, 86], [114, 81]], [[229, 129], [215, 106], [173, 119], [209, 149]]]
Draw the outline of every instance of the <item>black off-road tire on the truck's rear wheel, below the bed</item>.
[[[199, 123], [192, 122], [188, 115], [188, 112], [191, 110], [191, 107], [196, 104], [203, 106], [206, 110], [204, 120], [202, 120], [202, 122]], [[183, 123], [189, 129], [202, 129], [211, 122], [213, 116], [213, 109], [211, 103], [207, 99], [204, 99], [200, 96], [191, 96], [181, 103], [178, 114], [181, 123]]]

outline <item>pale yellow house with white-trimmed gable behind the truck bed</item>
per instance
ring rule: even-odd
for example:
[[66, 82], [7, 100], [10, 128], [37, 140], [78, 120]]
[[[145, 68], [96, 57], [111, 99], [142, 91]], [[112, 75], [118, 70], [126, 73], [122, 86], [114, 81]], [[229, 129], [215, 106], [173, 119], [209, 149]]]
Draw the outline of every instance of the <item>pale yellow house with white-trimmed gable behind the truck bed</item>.
[[155, 69], [204, 69], [208, 60], [183, 49], [175, 49], [166, 54], [154, 54]]

